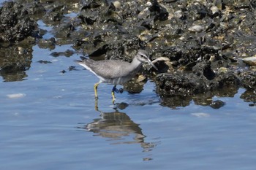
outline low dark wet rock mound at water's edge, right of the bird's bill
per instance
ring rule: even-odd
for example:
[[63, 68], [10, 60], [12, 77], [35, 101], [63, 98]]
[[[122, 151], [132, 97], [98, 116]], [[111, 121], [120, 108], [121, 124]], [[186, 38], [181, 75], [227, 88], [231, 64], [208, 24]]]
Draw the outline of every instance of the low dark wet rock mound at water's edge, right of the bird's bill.
[[208, 63], [197, 63], [193, 73], [159, 74], [156, 78], [160, 96], [192, 96], [209, 90], [239, 88], [240, 80], [233, 72], [215, 74]]

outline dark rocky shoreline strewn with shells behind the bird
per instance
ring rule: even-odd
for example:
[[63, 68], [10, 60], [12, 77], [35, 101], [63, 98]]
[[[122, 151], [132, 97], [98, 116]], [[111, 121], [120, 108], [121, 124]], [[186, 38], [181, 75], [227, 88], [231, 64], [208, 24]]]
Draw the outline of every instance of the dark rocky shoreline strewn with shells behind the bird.
[[[16, 0], [2, 5], [0, 17], [0, 75], [7, 81], [26, 76], [36, 44], [72, 44], [64, 54], [125, 61], [145, 49], [153, 60], [167, 58], [155, 63], [159, 72], [142, 71], [155, 80], [163, 105], [193, 98], [218, 108], [222, 102], [195, 95], [233, 96], [238, 88], [256, 102], [256, 1]], [[42, 39], [47, 31], [38, 20], [52, 26], [53, 37]]]

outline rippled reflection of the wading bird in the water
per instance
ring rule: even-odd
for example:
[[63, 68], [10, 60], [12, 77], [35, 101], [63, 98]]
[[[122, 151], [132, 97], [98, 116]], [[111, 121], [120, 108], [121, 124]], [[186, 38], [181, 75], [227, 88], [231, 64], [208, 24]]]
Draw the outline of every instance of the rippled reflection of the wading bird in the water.
[[[102, 136], [113, 141], [111, 144], [140, 144], [143, 152], [151, 151], [157, 145], [157, 142], [145, 142], [145, 135], [137, 123], [134, 123], [130, 117], [118, 109], [125, 109], [128, 104], [115, 104], [114, 112], [102, 112], [97, 107], [95, 109], [100, 113], [100, 117], [93, 122], [83, 126], [87, 131], [91, 131], [94, 136]], [[151, 158], [143, 158], [143, 161], [150, 161]]]

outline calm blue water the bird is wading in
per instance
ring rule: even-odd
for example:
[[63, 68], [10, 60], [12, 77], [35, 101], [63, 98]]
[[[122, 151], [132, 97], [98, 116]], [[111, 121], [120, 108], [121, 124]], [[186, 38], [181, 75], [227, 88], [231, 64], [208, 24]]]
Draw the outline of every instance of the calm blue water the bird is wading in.
[[220, 109], [193, 101], [170, 109], [154, 82], [116, 94], [115, 104], [112, 86], [101, 84], [96, 109], [98, 80], [76, 66], [79, 55], [50, 55], [68, 49], [35, 45], [28, 77], [1, 80], [1, 169], [255, 169], [256, 107], [239, 98], [244, 89], [215, 97]]

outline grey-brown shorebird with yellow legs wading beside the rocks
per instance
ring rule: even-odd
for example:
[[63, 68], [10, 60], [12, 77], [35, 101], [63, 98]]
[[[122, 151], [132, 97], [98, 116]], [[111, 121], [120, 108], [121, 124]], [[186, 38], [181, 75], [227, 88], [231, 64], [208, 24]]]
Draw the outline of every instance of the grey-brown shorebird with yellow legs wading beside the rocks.
[[80, 66], [85, 67], [99, 78], [99, 82], [94, 85], [95, 98], [98, 98], [97, 88], [102, 82], [113, 84], [112, 98], [115, 98], [116, 85], [123, 85], [124, 82], [131, 80], [138, 73], [143, 63], [149, 63], [154, 69], [154, 63], [151, 62], [146, 50], [138, 50], [132, 62], [120, 60], [102, 60], [94, 61], [89, 58], [80, 57], [81, 61], [75, 60]]

